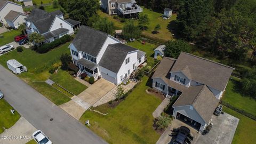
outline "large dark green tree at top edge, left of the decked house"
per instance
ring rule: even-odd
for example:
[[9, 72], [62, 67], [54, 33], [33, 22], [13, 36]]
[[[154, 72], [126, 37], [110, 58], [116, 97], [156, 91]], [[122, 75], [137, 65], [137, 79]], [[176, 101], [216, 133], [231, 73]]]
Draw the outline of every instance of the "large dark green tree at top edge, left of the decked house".
[[69, 17], [81, 21], [87, 26], [87, 21], [99, 10], [98, 0], [70, 0], [68, 2]]

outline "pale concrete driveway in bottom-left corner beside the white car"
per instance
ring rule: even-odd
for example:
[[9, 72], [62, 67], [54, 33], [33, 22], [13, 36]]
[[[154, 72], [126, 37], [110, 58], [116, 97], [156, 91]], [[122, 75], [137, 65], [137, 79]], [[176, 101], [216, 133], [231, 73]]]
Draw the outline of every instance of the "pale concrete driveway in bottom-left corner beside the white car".
[[20, 117], [10, 129], [0, 134], [0, 144], [25, 144], [30, 141], [36, 128], [31, 125], [24, 117]]

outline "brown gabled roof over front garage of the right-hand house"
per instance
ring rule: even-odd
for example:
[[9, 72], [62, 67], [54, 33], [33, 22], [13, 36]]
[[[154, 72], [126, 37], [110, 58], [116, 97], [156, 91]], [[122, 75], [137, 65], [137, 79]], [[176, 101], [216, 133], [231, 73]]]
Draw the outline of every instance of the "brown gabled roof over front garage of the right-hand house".
[[182, 92], [172, 107], [192, 105], [205, 123], [208, 123], [218, 103], [219, 100], [206, 85], [198, 85], [190, 86]]

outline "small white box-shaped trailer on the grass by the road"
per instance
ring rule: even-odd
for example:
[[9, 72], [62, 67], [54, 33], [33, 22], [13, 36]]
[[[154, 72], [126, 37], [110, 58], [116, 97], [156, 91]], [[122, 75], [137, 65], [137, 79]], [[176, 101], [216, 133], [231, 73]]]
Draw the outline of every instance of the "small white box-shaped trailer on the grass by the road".
[[14, 74], [21, 74], [22, 72], [27, 71], [27, 67], [21, 65], [20, 62], [17, 60], [8, 60], [7, 67], [14, 73]]

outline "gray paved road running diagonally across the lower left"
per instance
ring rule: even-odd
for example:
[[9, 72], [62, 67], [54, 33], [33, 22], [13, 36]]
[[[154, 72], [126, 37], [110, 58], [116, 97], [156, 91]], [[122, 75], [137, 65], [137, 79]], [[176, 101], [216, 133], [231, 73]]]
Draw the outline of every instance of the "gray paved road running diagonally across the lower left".
[[5, 100], [53, 143], [107, 143], [1, 65], [0, 89]]

